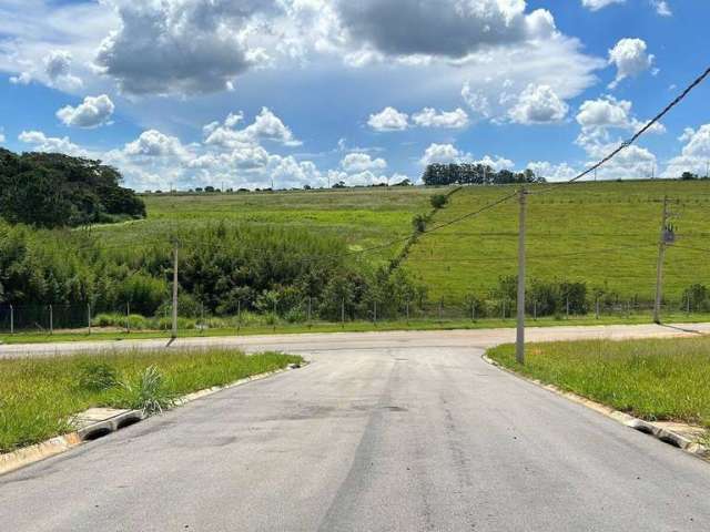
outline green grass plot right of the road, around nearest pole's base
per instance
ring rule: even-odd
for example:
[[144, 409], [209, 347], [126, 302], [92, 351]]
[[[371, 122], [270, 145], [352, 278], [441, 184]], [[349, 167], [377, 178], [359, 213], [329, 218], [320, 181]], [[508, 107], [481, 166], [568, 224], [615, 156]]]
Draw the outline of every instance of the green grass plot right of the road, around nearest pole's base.
[[523, 375], [651, 421], [710, 428], [710, 337], [531, 344], [488, 356]]

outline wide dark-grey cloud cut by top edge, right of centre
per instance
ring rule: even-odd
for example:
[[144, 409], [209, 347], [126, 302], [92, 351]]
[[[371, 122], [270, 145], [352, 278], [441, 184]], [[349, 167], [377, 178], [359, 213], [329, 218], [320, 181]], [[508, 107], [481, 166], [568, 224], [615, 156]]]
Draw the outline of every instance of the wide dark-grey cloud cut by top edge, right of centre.
[[526, 14], [524, 0], [336, 0], [335, 4], [352, 41], [395, 57], [464, 58], [554, 31], [549, 12]]

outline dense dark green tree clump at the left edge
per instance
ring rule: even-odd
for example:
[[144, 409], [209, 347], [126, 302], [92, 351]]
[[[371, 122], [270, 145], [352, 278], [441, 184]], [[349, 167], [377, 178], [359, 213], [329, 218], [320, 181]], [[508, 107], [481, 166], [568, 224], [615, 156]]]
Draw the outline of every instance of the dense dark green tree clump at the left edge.
[[99, 161], [0, 149], [0, 216], [39, 227], [144, 217], [145, 205]]

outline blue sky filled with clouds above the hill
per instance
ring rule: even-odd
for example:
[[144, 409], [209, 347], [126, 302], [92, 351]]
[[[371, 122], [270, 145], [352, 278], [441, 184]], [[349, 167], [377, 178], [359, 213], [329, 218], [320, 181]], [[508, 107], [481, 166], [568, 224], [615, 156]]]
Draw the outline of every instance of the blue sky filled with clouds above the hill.
[[[707, 0], [0, 0], [0, 146], [135, 190], [572, 177], [708, 66]], [[599, 180], [706, 175], [710, 81]]]

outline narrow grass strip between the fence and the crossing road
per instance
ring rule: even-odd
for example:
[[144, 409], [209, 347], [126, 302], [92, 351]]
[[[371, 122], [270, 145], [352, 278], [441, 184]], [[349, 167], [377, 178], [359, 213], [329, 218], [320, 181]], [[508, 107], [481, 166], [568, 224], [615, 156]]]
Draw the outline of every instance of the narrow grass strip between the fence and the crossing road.
[[[707, 314], [669, 314], [663, 317], [668, 324], [701, 324], [710, 321]], [[528, 319], [527, 327], [560, 327], [560, 326], [595, 326], [595, 325], [643, 325], [653, 323], [649, 314], [631, 314], [627, 316], [601, 316], [596, 319], [594, 315], [571, 316], [569, 319], [558, 319], [555, 317], [542, 317], [537, 320]], [[485, 319], [404, 319], [378, 321], [346, 321], [343, 324], [313, 321], [311, 324], [276, 323], [275, 325], [254, 324], [242, 327], [217, 327], [217, 328], [187, 328], [180, 329], [179, 338], [201, 338], [201, 337], [227, 337], [227, 336], [255, 336], [255, 335], [301, 335], [307, 332], [373, 332], [394, 330], [468, 330], [468, 329], [494, 329], [510, 328], [516, 326], [514, 318], [485, 318]], [[88, 331], [54, 331], [48, 332], [16, 332], [14, 335], [0, 335], [0, 345], [17, 344], [50, 344], [65, 341], [122, 341], [122, 340], [145, 340], [153, 338], [170, 338], [166, 330], [124, 330], [101, 328]], [[1, 348], [0, 348], [1, 356]]]

